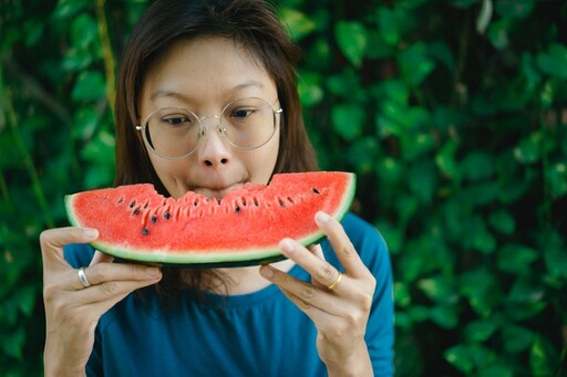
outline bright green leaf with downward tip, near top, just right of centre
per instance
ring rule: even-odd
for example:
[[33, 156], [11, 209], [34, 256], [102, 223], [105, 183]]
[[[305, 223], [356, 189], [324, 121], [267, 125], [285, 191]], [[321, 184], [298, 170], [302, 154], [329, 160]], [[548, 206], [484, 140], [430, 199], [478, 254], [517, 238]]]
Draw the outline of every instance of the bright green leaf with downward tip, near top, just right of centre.
[[368, 48], [367, 29], [358, 21], [339, 21], [334, 36], [344, 56], [352, 65], [360, 67]]

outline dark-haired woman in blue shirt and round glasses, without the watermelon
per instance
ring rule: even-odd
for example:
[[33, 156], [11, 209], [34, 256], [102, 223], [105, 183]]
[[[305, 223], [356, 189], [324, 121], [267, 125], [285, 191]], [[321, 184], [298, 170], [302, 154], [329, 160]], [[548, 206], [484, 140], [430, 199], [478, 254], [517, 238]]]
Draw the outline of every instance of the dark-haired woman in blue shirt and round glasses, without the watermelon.
[[[115, 184], [221, 198], [317, 169], [297, 57], [262, 1], [153, 3], [118, 75]], [[258, 114], [254, 133], [234, 126]], [[287, 260], [217, 270], [113, 263], [86, 244], [96, 230], [44, 231], [45, 375], [392, 375], [382, 238], [353, 214], [313, 220], [320, 245], [285, 239]]]

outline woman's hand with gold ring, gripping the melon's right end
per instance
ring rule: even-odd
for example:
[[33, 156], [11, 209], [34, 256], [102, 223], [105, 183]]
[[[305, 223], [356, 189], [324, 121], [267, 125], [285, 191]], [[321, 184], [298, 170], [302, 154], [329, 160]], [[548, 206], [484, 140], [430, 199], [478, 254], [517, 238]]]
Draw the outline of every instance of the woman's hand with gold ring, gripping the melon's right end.
[[[317, 226], [328, 237], [344, 271], [338, 271], [322, 255], [319, 245], [307, 249], [291, 239], [280, 242], [287, 258], [311, 275], [300, 281], [271, 265], [260, 273], [289, 297], [317, 329], [317, 349], [329, 375], [371, 376], [372, 367], [364, 334], [375, 289], [375, 279], [362, 263], [342, 226], [318, 212]], [[362, 370], [360, 370], [362, 368]]]

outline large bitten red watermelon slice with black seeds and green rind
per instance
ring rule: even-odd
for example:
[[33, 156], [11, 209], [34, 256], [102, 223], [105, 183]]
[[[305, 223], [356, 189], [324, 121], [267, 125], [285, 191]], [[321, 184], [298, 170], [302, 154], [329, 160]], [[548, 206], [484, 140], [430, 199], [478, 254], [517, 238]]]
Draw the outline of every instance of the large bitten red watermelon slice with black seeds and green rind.
[[221, 200], [193, 191], [177, 200], [152, 185], [128, 185], [65, 196], [73, 226], [99, 229], [94, 248], [121, 259], [192, 266], [236, 266], [284, 259], [278, 242], [309, 245], [323, 237], [313, 216], [341, 219], [355, 176], [341, 171], [275, 175], [268, 186], [246, 184]]

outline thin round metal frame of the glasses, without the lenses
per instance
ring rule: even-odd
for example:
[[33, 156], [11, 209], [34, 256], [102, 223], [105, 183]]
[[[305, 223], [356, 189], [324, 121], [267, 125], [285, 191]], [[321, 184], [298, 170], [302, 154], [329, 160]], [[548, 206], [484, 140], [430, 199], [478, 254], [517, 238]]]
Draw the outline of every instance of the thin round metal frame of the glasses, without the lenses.
[[[256, 146], [256, 147], [241, 147], [239, 145], [236, 145], [234, 144], [227, 136], [226, 136], [226, 127], [224, 126], [223, 124], [223, 114], [225, 113], [225, 111], [231, 106], [234, 103], [238, 102], [238, 101], [243, 101], [243, 100], [259, 100], [259, 101], [262, 101], [265, 103], [267, 103], [268, 105], [270, 105], [271, 107], [271, 111], [274, 113], [274, 130], [270, 135], [270, 137], [268, 137], [268, 139], [266, 142], [264, 142], [262, 144]], [[278, 101], [278, 98], [274, 100], [274, 102]], [[147, 139], [147, 125], [150, 124], [150, 118], [156, 114], [157, 112], [161, 112], [161, 111], [164, 111], [164, 109], [179, 109], [179, 111], [184, 111], [184, 112], [187, 112], [192, 115], [195, 116], [195, 118], [197, 119], [197, 122], [199, 123], [199, 132], [198, 132], [198, 140], [197, 140], [197, 144], [195, 144], [195, 147], [187, 154], [183, 155], [183, 156], [178, 156], [178, 157], [172, 157], [172, 156], [164, 156], [162, 154], [159, 154], [157, 150], [154, 149], [154, 147], [152, 146], [152, 144], [150, 143], [150, 140]], [[165, 158], [165, 159], [182, 159], [182, 158], [186, 158], [188, 156], [190, 156], [195, 150], [197, 150], [197, 146], [198, 144], [200, 143], [200, 140], [205, 137], [205, 126], [203, 125], [203, 122], [204, 119], [206, 118], [216, 118], [218, 119], [218, 132], [220, 133], [220, 135], [223, 135], [225, 137], [225, 139], [231, 145], [234, 146], [235, 148], [238, 148], [238, 149], [241, 149], [241, 150], [254, 150], [254, 149], [258, 149], [262, 146], [265, 146], [266, 144], [268, 144], [269, 140], [271, 140], [271, 138], [274, 137], [274, 135], [276, 135], [276, 129], [278, 127], [278, 124], [276, 122], [276, 116], [279, 115], [279, 114], [282, 114], [284, 113], [284, 109], [280, 107], [278, 109], [276, 109], [274, 107], [274, 104], [270, 103], [269, 101], [267, 100], [264, 100], [264, 98], [260, 98], [260, 97], [241, 97], [241, 98], [237, 98], [237, 100], [234, 100], [234, 101], [230, 101], [229, 103], [227, 103], [223, 109], [220, 111], [220, 115], [205, 115], [205, 116], [202, 116], [199, 117], [197, 114], [195, 114], [194, 112], [192, 112], [190, 109], [186, 108], [186, 107], [181, 107], [181, 106], [166, 106], [166, 107], [159, 107], [159, 108], [156, 108], [154, 111], [152, 111], [150, 113], [150, 115], [147, 115], [145, 118], [144, 118], [144, 122], [141, 124], [141, 125], [137, 125], [136, 126], [136, 130], [141, 132], [142, 133], [142, 138], [144, 139], [144, 144], [146, 145], [146, 147], [152, 150], [152, 153], [154, 153], [156, 156], [159, 156], [162, 158]]]

